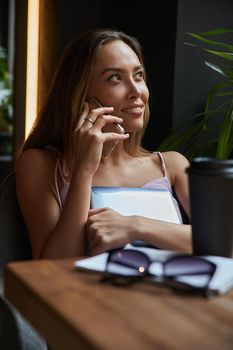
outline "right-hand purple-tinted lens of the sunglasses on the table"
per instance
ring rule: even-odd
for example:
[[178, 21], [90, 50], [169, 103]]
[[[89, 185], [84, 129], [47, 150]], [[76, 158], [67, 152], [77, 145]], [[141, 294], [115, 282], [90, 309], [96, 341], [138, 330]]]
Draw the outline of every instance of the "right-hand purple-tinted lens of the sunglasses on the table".
[[167, 277], [178, 275], [198, 275], [214, 273], [215, 266], [210, 262], [196, 257], [173, 257], [165, 263], [164, 273]]

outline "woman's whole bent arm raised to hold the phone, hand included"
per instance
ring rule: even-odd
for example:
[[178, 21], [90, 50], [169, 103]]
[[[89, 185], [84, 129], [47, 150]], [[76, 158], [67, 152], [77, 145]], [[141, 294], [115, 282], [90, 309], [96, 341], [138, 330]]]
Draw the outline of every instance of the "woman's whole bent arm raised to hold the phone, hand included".
[[[127, 134], [102, 133], [106, 123], [121, 123], [113, 108], [89, 113], [85, 105], [74, 134], [74, 155], [69, 191], [62, 211], [54, 195], [55, 159], [48, 151], [23, 152], [16, 169], [17, 196], [28, 227], [34, 258], [63, 258], [86, 253], [85, 225], [90, 208], [90, 189], [99, 166], [103, 144], [124, 140]], [[85, 121], [89, 116], [94, 125]]]

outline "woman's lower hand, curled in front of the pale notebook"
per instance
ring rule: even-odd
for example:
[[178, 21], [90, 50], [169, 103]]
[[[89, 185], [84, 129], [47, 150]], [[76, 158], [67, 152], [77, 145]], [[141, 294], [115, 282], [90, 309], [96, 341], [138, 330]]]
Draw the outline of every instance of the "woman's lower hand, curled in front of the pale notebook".
[[88, 252], [91, 255], [123, 247], [135, 235], [133, 216], [123, 216], [110, 208], [91, 209], [87, 220]]

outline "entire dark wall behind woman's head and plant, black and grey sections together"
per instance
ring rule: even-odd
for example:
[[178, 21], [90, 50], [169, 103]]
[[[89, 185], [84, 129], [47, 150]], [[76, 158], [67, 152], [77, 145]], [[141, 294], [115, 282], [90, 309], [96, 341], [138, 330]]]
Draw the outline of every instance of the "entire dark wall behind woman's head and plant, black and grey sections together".
[[110, 27], [136, 36], [144, 49], [151, 88], [151, 119], [143, 140], [154, 150], [172, 129], [202, 112], [209, 88], [221, 77], [203, 52], [184, 44], [187, 31], [233, 27], [232, 0], [57, 0], [59, 52], [78, 33]]

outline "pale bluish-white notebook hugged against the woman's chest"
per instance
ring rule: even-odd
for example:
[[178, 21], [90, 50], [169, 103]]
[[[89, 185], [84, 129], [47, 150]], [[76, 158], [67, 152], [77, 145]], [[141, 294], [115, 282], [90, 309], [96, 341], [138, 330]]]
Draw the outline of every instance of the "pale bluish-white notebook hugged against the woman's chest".
[[166, 189], [92, 187], [91, 208], [109, 207], [122, 215], [140, 215], [181, 223], [171, 195]]

